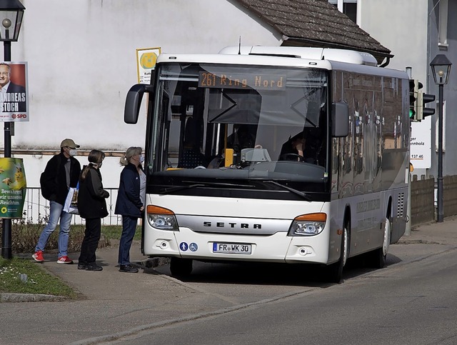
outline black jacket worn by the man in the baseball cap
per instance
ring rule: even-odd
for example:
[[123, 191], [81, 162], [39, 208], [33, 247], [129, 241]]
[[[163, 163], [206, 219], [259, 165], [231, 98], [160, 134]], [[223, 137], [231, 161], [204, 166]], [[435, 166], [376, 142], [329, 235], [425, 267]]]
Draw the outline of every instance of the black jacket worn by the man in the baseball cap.
[[[49, 159], [46, 168], [40, 177], [41, 194], [49, 201], [56, 201], [59, 204], [65, 204], [66, 194], [69, 189], [66, 186], [65, 163], [67, 159], [64, 154], [56, 154]], [[81, 164], [79, 161], [70, 157], [70, 186], [76, 187], [81, 174]]]

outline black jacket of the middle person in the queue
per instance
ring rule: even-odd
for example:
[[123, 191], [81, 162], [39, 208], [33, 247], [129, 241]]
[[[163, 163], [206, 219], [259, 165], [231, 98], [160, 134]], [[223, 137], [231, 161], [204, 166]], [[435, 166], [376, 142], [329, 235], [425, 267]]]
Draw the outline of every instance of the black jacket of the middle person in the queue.
[[[86, 166], [83, 167], [83, 171]], [[93, 219], [108, 216], [105, 199], [109, 197], [108, 191], [103, 189], [99, 169], [89, 164], [86, 178], [79, 179], [78, 211], [81, 218]]]

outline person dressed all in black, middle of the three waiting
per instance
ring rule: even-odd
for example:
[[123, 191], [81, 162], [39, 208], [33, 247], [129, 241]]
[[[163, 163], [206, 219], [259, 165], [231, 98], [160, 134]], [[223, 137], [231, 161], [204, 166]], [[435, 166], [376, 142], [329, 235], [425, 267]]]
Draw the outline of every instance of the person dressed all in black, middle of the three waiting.
[[81, 218], [86, 219], [86, 231], [81, 244], [78, 269], [86, 271], [102, 271], [96, 264], [95, 251], [101, 236], [101, 219], [108, 216], [106, 198], [109, 192], [101, 183], [100, 168], [105, 154], [99, 150], [89, 152], [89, 164], [83, 167], [79, 177], [78, 210]]

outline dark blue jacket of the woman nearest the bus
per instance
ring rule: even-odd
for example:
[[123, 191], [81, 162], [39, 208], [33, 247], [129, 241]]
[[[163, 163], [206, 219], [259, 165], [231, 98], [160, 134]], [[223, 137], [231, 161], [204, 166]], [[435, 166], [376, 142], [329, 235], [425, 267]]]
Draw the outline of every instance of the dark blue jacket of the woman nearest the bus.
[[116, 199], [115, 214], [141, 217], [140, 175], [136, 166], [129, 163], [121, 172], [119, 191]]

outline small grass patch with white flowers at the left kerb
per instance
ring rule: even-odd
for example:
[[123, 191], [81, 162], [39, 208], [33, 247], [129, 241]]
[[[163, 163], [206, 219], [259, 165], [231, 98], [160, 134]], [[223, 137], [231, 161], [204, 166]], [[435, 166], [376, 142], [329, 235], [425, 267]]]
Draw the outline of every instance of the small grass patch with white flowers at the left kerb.
[[0, 292], [19, 294], [46, 294], [77, 297], [64, 281], [53, 276], [30, 259], [0, 257]]

